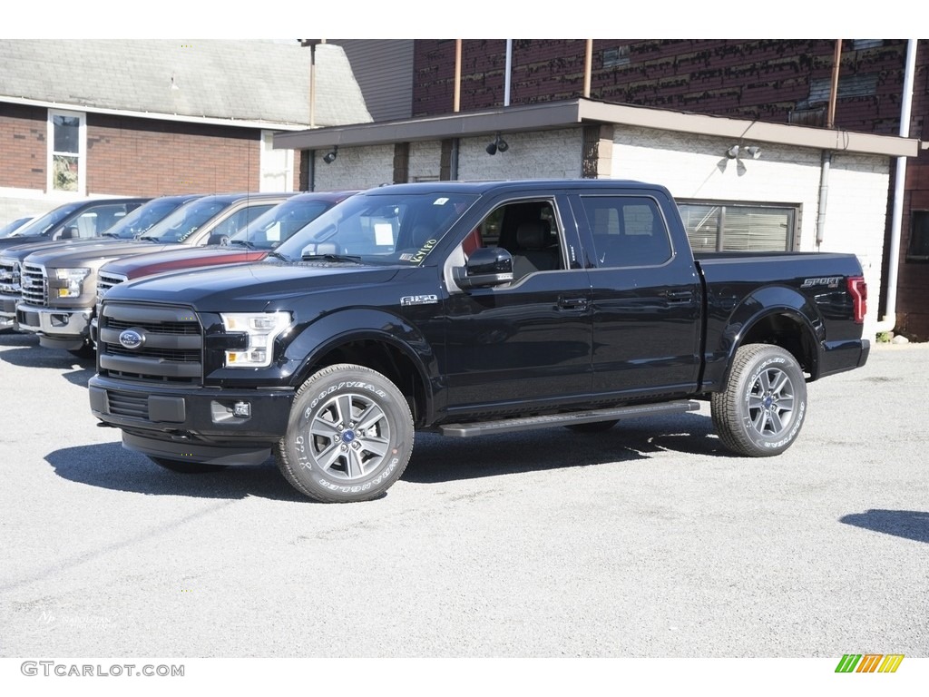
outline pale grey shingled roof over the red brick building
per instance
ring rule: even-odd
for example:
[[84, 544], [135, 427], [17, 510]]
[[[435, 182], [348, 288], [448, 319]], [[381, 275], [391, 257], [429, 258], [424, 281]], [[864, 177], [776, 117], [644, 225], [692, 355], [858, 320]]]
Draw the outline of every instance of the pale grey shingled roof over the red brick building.
[[[340, 46], [315, 49], [316, 126], [372, 121]], [[0, 40], [0, 102], [181, 120], [310, 125], [310, 49], [295, 41]], [[245, 124], [242, 124], [245, 125]]]

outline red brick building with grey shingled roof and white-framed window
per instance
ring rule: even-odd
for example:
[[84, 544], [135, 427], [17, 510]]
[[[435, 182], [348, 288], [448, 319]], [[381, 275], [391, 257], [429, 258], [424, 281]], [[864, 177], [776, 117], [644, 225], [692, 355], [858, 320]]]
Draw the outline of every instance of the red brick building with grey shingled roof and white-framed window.
[[0, 222], [82, 197], [294, 191], [273, 133], [371, 120], [338, 46], [3, 40], [0, 65]]

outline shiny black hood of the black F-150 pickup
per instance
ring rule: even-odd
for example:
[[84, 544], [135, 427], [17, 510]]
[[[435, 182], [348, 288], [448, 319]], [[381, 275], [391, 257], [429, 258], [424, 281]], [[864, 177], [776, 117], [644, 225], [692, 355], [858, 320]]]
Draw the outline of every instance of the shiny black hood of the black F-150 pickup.
[[106, 297], [190, 305], [205, 312], [257, 312], [271, 303], [284, 309], [291, 297], [386, 283], [398, 271], [396, 266], [257, 262], [146, 276], [114, 285]]

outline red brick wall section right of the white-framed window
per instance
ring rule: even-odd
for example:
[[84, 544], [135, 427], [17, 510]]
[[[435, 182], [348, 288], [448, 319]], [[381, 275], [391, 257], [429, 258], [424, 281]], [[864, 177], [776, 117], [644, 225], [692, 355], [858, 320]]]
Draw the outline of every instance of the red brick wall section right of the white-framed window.
[[87, 114], [87, 191], [257, 191], [257, 129]]

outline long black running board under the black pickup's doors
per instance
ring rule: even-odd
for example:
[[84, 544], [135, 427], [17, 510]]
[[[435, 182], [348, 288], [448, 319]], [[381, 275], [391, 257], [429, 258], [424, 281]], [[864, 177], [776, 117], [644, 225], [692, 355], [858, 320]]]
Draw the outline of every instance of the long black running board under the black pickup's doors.
[[521, 416], [499, 421], [483, 421], [475, 424], [445, 424], [438, 427], [443, 436], [454, 438], [471, 438], [486, 436], [491, 433], [512, 433], [530, 428], [550, 428], [571, 426], [573, 424], [590, 424], [595, 421], [611, 421], [638, 416], [656, 414], [682, 414], [700, 410], [699, 401], [662, 401], [656, 404], [634, 404], [632, 406], [595, 409], [593, 411], [569, 412], [566, 414], [546, 414], [543, 416]]

